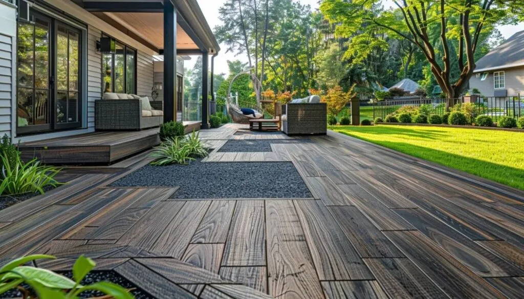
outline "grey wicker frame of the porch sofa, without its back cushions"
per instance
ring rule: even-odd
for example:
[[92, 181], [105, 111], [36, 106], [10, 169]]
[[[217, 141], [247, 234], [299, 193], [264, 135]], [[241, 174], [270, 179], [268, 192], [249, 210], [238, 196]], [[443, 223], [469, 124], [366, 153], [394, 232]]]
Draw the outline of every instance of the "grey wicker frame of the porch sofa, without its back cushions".
[[[162, 110], [155, 105], [155, 110]], [[96, 130], [140, 130], [158, 127], [163, 115], [144, 116], [141, 99], [99, 99], [95, 101]]]

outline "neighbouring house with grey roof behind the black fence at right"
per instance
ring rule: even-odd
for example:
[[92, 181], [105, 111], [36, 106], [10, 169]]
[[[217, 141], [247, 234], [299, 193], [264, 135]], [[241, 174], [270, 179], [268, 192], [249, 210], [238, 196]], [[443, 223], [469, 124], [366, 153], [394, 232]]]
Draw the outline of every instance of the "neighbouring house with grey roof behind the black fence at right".
[[470, 79], [473, 88], [486, 97], [524, 95], [524, 30], [476, 62]]

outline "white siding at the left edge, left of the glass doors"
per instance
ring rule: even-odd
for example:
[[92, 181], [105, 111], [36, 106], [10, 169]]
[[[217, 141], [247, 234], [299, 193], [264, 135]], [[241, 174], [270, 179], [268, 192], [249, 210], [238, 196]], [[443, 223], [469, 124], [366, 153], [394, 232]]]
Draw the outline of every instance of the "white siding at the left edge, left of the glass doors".
[[0, 1], [0, 137], [12, 136], [15, 94], [16, 7]]

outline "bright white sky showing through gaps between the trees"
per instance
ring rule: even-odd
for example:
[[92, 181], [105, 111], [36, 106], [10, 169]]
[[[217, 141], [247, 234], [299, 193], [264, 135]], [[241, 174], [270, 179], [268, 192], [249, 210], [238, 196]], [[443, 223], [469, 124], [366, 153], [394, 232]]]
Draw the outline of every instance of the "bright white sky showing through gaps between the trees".
[[[208, 20], [208, 24], [211, 27], [211, 29], [215, 28], [217, 25], [221, 25], [222, 22], [219, 19], [219, 8], [224, 4], [225, 0], [197, 0], [200, 9], [202, 9], [202, 12]], [[319, 7], [319, 0], [296, 0], [300, 2], [301, 4], [309, 4], [311, 6], [311, 9], [314, 10]], [[393, 4], [392, 0], [383, 0], [383, 5], [386, 8], [392, 7], [395, 4]], [[509, 38], [515, 32], [524, 30], [524, 23], [520, 23], [518, 25], [507, 25], [507, 26], [500, 26], [498, 28], [503, 35], [504, 38]], [[235, 57], [234, 53], [228, 52], [226, 53], [226, 46], [220, 45], [221, 51], [219, 53], [219, 56], [215, 57], [215, 74], [225, 73], [226, 75], [229, 73], [229, 70], [227, 68], [227, 60], [241, 60], [247, 62], [247, 57], [245, 54], [239, 55]], [[193, 68], [194, 62], [196, 61], [196, 57], [192, 57], [190, 61], [185, 61], [185, 68]], [[210, 64], [211, 65], [211, 64]]]

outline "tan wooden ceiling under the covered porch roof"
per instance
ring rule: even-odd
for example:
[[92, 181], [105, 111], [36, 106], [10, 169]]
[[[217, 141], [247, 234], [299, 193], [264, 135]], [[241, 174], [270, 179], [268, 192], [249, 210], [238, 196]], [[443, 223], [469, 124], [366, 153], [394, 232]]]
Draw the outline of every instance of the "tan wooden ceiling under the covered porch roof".
[[[97, 13], [101, 19], [111, 18], [118, 24], [133, 31], [157, 49], [163, 49], [163, 13]], [[177, 49], [198, 50], [199, 47], [177, 24]]]

